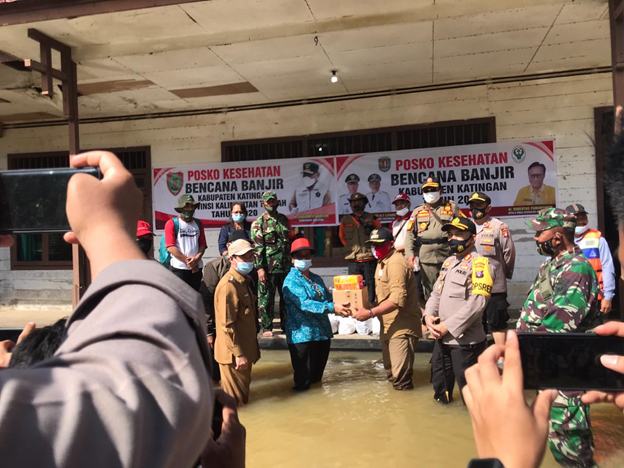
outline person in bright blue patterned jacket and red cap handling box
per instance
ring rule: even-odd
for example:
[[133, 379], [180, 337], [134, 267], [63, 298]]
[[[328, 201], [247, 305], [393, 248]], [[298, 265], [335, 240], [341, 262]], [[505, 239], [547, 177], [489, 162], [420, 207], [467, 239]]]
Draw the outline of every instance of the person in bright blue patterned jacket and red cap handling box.
[[348, 304], [332, 301], [323, 279], [310, 271], [314, 249], [308, 239], [292, 243], [293, 267], [284, 280], [286, 340], [295, 372], [293, 390], [307, 390], [320, 382], [329, 358], [333, 333], [327, 314], [349, 315]]

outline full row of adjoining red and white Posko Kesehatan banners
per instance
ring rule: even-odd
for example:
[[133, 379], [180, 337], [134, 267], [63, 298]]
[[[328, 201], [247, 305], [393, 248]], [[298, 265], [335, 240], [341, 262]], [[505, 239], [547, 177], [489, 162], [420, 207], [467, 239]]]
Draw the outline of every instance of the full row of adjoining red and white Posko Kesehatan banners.
[[529, 216], [556, 205], [556, 169], [553, 140], [154, 168], [155, 228], [163, 229], [176, 215], [178, 197], [185, 193], [200, 202], [196, 217], [206, 228], [228, 222], [236, 201], [246, 205], [252, 221], [264, 211], [266, 190], [277, 193], [279, 211], [293, 226], [338, 224], [351, 212], [348, 198], [356, 191], [367, 196], [366, 211], [389, 222], [394, 197], [408, 194], [415, 208], [429, 177], [437, 178], [444, 196], [461, 209], [468, 208], [473, 193], [485, 192], [493, 216]]

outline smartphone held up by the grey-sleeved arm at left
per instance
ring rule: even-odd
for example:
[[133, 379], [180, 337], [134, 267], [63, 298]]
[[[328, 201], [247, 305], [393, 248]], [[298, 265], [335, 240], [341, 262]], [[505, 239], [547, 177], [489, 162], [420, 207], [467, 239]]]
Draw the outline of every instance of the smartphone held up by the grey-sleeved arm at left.
[[0, 234], [70, 231], [67, 183], [77, 173], [102, 178], [97, 167], [0, 171]]

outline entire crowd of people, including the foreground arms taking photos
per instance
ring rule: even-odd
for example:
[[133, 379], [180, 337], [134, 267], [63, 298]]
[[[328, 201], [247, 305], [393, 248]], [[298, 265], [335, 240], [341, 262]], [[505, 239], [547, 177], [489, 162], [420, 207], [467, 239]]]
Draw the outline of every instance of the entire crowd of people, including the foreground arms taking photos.
[[[609, 174], [614, 200], [624, 196], [624, 139], [619, 145]], [[274, 192], [263, 194], [265, 212], [253, 223], [244, 204], [232, 205], [219, 236], [221, 256], [206, 265], [197, 202], [182, 195], [159, 250], [165, 269], [146, 260], [153, 233], [137, 224], [141, 197], [120, 161], [96, 151], [72, 165], [99, 166], [103, 174], [101, 181], [76, 175], [68, 186], [72, 232], [65, 239], [84, 247], [94, 281], [66, 323], [40, 332], [29, 324], [17, 345], [0, 347], [7, 464], [244, 466], [236, 406], [249, 401], [258, 336], [273, 335], [276, 294], [296, 391], [322, 380], [330, 313], [379, 318], [383, 366], [397, 391], [413, 388], [414, 353], [428, 333], [435, 340], [433, 396], [448, 404], [459, 387], [482, 457], [474, 466], [538, 466], [547, 439], [562, 465], [594, 466], [589, 405], [624, 409], [624, 394], [603, 392], [543, 391], [527, 406], [518, 340], [507, 332], [515, 247], [509, 228], [490, 215], [485, 193], [472, 194], [466, 217], [429, 178], [423, 203], [411, 213], [409, 197], [392, 201], [396, 219], [389, 228], [366, 211], [367, 195], [350, 194], [340, 239], [348, 272], [361, 274], [369, 293], [368, 307], [355, 307], [334, 302], [311, 271], [315, 249], [279, 213]], [[614, 208], [624, 221], [624, 208]], [[615, 272], [604, 238], [588, 221], [574, 204], [544, 208], [527, 222], [547, 260], [517, 330], [624, 337], [621, 324], [600, 325], [611, 310]], [[10, 242], [0, 238], [2, 246]], [[624, 373], [622, 357], [603, 356], [601, 363]], [[223, 409], [213, 438], [215, 398]], [[32, 450], [23, 450], [26, 438]], [[517, 440], [524, 447], [517, 449]]]

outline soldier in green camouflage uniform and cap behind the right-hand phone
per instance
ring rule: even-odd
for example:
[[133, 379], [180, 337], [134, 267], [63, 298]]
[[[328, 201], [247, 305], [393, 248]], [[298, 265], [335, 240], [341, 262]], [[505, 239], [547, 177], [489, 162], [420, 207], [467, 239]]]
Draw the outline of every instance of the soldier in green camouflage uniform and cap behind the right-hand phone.
[[[517, 330], [536, 333], [584, 332], [600, 323], [596, 273], [574, 244], [576, 218], [547, 208], [527, 221], [537, 231], [543, 263], [521, 311]], [[595, 466], [589, 406], [582, 392], [559, 392], [550, 410], [548, 442], [555, 460], [565, 466]]]

